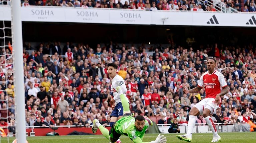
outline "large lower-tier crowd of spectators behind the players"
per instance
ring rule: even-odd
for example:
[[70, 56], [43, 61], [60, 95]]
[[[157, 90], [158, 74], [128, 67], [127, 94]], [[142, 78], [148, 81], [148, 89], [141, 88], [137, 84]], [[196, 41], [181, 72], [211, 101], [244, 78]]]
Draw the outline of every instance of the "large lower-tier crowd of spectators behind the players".
[[[139, 47], [67, 42], [41, 43], [32, 47], [24, 43], [24, 89], [27, 126], [85, 125], [97, 118], [108, 125], [113, 98], [107, 64], [118, 65], [125, 79], [130, 110], [147, 115], [158, 124], [170, 123], [170, 132], [178, 132], [177, 124], [186, 125], [189, 110], [205, 98], [204, 88], [197, 94], [183, 94], [192, 89], [206, 70], [209, 56], [217, 59], [230, 89], [222, 98], [221, 108], [211, 115], [216, 123], [256, 122], [256, 50], [215, 44], [202, 50], [173, 47]], [[27, 50], [33, 50], [31, 54]], [[147, 51], [152, 51], [149, 55]], [[1, 124], [15, 124], [13, 57], [11, 46], [0, 53]], [[205, 123], [202, 116], [197, 123]]]

